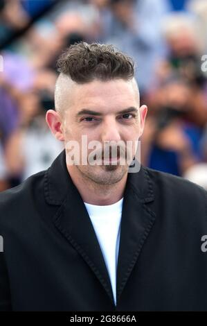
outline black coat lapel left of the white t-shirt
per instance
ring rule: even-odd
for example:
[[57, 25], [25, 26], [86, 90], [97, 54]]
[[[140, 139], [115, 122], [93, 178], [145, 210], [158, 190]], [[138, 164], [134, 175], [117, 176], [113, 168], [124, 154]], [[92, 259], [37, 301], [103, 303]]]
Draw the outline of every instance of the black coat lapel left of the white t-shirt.
[[46, 171], [45, 196], [50, 205], [60, 205], [53, 222], [89, 265], [114, 304], [111, 282], [96, 232], [84, 202], [66, 169], [65, 152]]

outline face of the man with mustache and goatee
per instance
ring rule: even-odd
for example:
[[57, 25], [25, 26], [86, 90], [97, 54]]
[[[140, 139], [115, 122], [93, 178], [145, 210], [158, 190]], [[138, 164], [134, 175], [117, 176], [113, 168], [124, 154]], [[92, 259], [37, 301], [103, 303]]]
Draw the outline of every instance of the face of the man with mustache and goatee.
[[[69, 103], [68, 108], [67, 103]], [[147, 108], [145, 105], [142, 108], [139, 108], [135, 80], [116, 79], [107, 82], [93, 80], [83, 85], [75, 83], [68, 95], [64, 94], [62, 131], [66, 157], [71, 155], [71, 141], [80, 145], [78, 151], [80, 164], [76, 162], [75, 165], [69, 166], [67, 160], [69, 171], [78, 169], [82, 176], [102, 185], [120, 181], [127, 173], [130, 164], [126, 160], [127, 141], [131, 141], [130, 145], [132, 145], [128, 158], [131, 155], [133, 159], [138, 138], [143, 132]], [[87, 143], [83, 144], [83, 136], [87, 139]], [[91, 141], [98, 141], [101, 147], [89, 148]], [[112, 146], [107, 145], [109, 141], [112, 141]], [[116, 152], [115, 144], [125, 146], [118, 146]], [[95, 158], [99, 157], [100, 160], [97, 161], [99, 164], [92, 165], [90, 153], [94, 153], [95, 148], [97, 154]], [[83, 151], [87, 153], [87, 164], [82, 164]], [[125, 164], [120, 163], [123, 161]]]

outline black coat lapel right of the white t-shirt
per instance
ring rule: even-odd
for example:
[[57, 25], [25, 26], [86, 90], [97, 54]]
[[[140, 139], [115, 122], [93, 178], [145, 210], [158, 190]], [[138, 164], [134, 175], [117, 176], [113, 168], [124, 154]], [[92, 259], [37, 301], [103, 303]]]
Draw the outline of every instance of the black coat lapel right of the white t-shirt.
[[120, 224], [117, 303], [155, 221], [156, 214], [146, 205], [153, 200], [152, 182], [147, 169], [141, 166], [138, 173], [128, 173]]

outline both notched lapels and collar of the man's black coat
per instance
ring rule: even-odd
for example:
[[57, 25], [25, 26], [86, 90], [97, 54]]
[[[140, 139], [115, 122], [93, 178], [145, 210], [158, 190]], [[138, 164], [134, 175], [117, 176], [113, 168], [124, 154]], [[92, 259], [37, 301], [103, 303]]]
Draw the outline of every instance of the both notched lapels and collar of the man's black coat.
[[[66, 169], [65, 151], [46, 170], [44, 194], [49, 205], [60, 206], [53, 216], [53, 223], [87, 262], [114, 303], [109, 274], [91, 219]], [[154, 223], [156, 214], [146, 205], [153, 200], [152, 180], [147, 168], [141, 165], [138, 173], [128, 173], [125, 187], [116, 280], [117, 304]]]

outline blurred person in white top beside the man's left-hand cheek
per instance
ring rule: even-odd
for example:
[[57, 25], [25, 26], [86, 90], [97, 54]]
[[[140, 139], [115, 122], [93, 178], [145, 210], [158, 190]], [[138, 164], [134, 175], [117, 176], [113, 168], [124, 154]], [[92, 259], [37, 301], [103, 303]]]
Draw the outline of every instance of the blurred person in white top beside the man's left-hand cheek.
[[53, 94], [46, 89], [19, 98], [20, 126], [10, 135], [5, 153], [10, 176], [20, 176], [20, 182], [48, 168], [62, 151], [62, 144], [51, 135], [44, 117], [53, 107]]

